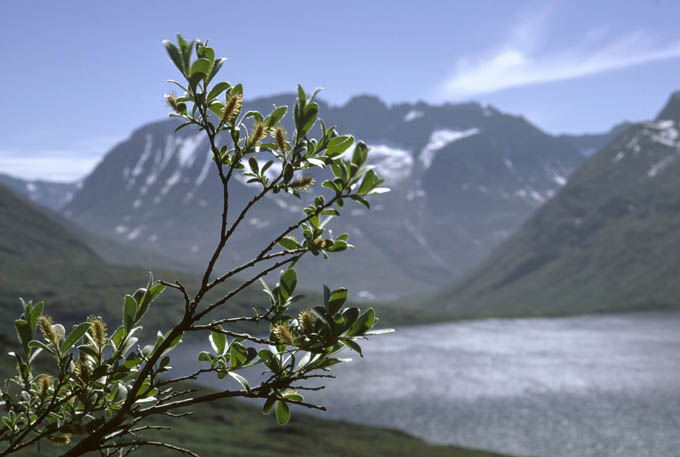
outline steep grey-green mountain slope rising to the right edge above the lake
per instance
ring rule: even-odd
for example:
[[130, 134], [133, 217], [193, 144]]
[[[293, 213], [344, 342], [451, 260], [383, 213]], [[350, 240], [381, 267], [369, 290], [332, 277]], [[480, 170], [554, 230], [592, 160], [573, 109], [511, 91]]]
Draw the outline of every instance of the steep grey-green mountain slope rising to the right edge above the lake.
[[459, 315], [680, 306], [680, 92], [633, 124], [474, 274], [432, 305]]

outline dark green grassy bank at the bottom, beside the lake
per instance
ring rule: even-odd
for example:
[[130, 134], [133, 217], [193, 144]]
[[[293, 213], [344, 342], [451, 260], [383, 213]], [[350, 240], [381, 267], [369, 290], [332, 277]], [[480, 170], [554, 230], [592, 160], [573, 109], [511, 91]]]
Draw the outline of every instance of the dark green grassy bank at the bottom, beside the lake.
[[[294, 413], [288, 425], [279, 426], [259, 408], [237, 401], [202, 405], [193, 417], [168, 424], [174, 425], [175, 431], [166, 437], [171, 436], [173, 443], [203, 457], [499, 457], [483, 451], [429, 445], [395, 430], [300, 413]], [[171, 454], [156, 450], [152, 455]]]

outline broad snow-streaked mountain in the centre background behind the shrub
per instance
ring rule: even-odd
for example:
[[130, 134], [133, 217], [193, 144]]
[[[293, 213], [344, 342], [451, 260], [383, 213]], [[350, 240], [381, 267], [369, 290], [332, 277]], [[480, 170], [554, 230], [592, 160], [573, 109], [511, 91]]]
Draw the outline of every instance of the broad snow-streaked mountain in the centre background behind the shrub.
[[[289, 94], [260, 98], [246, 109], [292, 105]], [[430, 290], [477, 265], [582, 161], [568, 142], [522, 117], [476, 103], [387, 106], [359, 96], [343, 106], [321, 103], [321, 116], [372, 146], [372, 161], [393, 189], [370, 215], [346, 210], [334, 226], [359, 249], [333, 262], [303, 261], [303, 285], [342, 278], [362, 297]], [[220, 189], [202, 135], [160, 121], [114, 147], [82, 182], [63, 213], [88, 230], [155, 249], [196, 267], [215, 244]], [[234, 182], [243, 205], [253, 188]], [[226, 264], [241, 263], [294, 217], [304, 201], [262, 201], [237, 232]], [[264, 243], [264, 244], [263, 244]], [[330, 284], [333, 285], [333, 284]]]

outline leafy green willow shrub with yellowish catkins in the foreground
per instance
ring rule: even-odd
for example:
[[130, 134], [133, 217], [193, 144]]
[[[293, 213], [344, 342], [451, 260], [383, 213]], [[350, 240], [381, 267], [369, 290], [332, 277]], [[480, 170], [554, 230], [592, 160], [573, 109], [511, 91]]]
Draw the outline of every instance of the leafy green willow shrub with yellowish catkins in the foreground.
[[[265, 413], [274, 412], [279, 424], [288, 422], [290, 405], [324, 409], [308, 403], [301, 391], [310, 380], [330, 377], [329, 369], [345, 359], [338, 354], [348, 348], [361, 354], [360, 341], [373, 330], [377, 318], [372, 309], [346, 307], [347, 289], [323, 289], [323, 303], [295, 313], [297, 274], [293, 269], [307, 254], [330, 258], [352, 247], [349, 236], [333, 236], [329, 222], [341, 217], [347, 203], [369, 207], [367, 199], [385, 191], [383, 180], [366, 165], [368, 147], [319, 119], [316, 92], [308, 95], [298, 86], [292, 112], [294, 131], [282, 126], [287, 106], [269, 114], [242, 112], [243, 86], [216, 82], [224, 59], [201, 41], [164, 43], [182, 81], [171, 81], [181, 95], [167, 95], [170, 116], [181, 119], [180, 128], [202, 131], [221, 181], [223, 205], [219, 241], [195, 293], [179, 282], [150, 280], [123, 300], [122, 319], [108, 327], [99, 317], [66, 330], [45, 314], [43, 303], [23, 303], [16, 320], [20, 350], [16, 375], [2, 386], [0, 456], [13, 454], [42, 441], [64, 446], [63, 456], [88, 452], [126, 455], [146, 446], [161, 446], [193, 455], [165, 441], [145, 438], [153, 418], [176, 415], [192, 405], [223, 398], [261, 399]], [[317, 91], [318, 92], [318, 91]], [[312, 133], [317, 133], [312, 137]], [[351, 150], [351, 148], [353, 150]], [[310, 174], [323, 172], [318, 185]], [[242, 175], [256, 190], [251, 200], [230, 213], [229, 183]], [[302, 194], [305, 194], [304, 196]], [[230, 271], [217, 271], [220, 255], [236, 229], [247, 221], [249, 211], [269, 194], [291, 194], [308, 205], [299, 220], [288, 227], [250, 261]], [[279, 195], [277, 198], [282, 198]], [[268, 287], [263, 278], [280, 271], [278, 283]], [[206, 294], [234, 275], [249, 279], [219, 299]], [[232, 298], [262, 281], [268, 305], [246, 316], [228, 314]], [[154, 300], [172, 289], [184, 302], [182, 317], [174, 327], [159, 332], [155, 341], [140, 341], [144, 316]], [[214, 295], [216, 290], [211, 294]], [[265, 324], [269, 334], [256, 337], [230, 330], [233, 324]], [[200, 370], [172, 377], [170, 352], [187, 332], [200, 332], [211, 351], [197, 355]], [[36, 364], [36, 361], [39, 364]], [[46, 366], [48, 366], [46, 368]], [[256, 384], [242, 370], [261, 365], [264, 377]], [[223, 380], [224, 390], [200, 393], [181, 390], [183, 381], [211, 373]], [[308, 386], [308, 387], [305, 387]]]

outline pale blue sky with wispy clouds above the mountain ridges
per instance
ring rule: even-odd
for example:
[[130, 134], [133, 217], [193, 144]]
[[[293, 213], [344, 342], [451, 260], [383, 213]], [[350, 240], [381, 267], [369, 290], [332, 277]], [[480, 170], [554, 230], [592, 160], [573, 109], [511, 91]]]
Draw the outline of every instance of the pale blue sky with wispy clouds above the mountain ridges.
[[675, 0], [6, 1], [0, 172], [77, 179], [164, 117], [176, 32], [209, 39], [247, 97], [300, 82], [336, 104], [478, 100], [594, 132], [680, 89], [678, 18]]

